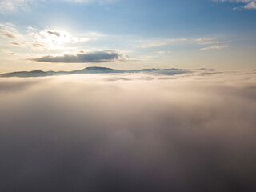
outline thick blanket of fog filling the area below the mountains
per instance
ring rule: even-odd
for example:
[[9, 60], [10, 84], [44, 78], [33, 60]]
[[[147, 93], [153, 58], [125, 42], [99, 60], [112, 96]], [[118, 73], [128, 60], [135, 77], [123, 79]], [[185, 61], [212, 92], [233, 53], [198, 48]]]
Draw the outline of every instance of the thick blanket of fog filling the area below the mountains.
[[0, 78], [0, 191], [256, 191], [256, 73]]

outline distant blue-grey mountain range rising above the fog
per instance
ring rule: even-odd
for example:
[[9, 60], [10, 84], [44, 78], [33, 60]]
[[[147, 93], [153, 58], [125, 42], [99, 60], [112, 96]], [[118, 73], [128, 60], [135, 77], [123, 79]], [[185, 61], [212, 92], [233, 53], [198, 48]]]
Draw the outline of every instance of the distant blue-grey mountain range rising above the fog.
[[[204, 70], [204, 69], [200, 69]], [[150, 74], [185, 74], [192, 73], [193, 70], [181, 70], [181, 69], [143, 69], [143, 70], [114, 70], [106, 67], [86, 67], [83, 70], [73, 70], [73, 71], [42, 71], [42, 70], [32, 70], [32, 71], [18, 71], [7, 74], [0, 74], [0, 77], [19, 77], [19, 78], [29, 78], [29, 77], [46, 77], [46, 76], [57, 76], [66, 74], [121, 74], [121, 73], [150, 73]]]

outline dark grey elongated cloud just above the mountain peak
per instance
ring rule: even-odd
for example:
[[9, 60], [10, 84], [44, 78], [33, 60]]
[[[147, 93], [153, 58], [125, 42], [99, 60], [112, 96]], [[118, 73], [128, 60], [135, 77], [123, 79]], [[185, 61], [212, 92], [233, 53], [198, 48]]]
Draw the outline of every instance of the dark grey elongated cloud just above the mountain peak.
[[64, 63], [86, 63], [86, 62], [113, 62], [125, 60], [126, 56], [114, 50], [83, 52], [78, 54], [64, 54], [62, 56], [44, 56], [42, 58], [31, 58], [34, 62], [64, 62]]

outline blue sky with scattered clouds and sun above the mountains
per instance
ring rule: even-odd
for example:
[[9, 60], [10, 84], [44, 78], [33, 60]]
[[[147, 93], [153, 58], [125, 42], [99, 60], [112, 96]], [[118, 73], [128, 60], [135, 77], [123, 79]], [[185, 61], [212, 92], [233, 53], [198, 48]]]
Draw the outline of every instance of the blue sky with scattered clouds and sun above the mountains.
[[254, 0], [1, 0], [0, 71], [254, 69]]

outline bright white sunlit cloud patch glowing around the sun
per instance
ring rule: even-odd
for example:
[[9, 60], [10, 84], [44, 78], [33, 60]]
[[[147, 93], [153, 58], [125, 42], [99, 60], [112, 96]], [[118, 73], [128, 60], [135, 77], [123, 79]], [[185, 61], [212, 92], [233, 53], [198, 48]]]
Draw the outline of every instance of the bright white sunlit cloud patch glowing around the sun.
[[0, 38], [5, 42], [2, 46], [19, 46], [20, 48], [30, 48], [32, 50], [75, 50], [80, 42], [87, 42], [98, 39], [102, 34], [70, 34], [64, 30], [37, 30], [27, 27], [27, 34], [22, 34], [16, 30], [16, 26], [7, 23], [0, 23]]

